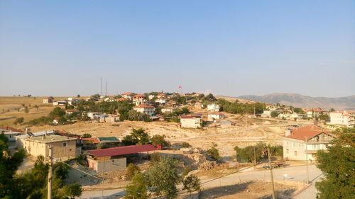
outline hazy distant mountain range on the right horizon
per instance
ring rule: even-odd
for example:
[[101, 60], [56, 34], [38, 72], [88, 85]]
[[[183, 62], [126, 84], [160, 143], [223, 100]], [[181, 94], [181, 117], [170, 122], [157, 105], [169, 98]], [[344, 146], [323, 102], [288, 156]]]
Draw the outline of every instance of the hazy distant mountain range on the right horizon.
[[300, 108], [318, 107], [325, 110], [328, 110], [329, 108], [334, 108], [335, 110], [355, 110], [355, 95], [340, 98], [314, 98], [310, 96], [302, 96], [297, 93], [273, 93], [264, 96], [239, 96], [238, 98], [264, 103], [281, 103]]

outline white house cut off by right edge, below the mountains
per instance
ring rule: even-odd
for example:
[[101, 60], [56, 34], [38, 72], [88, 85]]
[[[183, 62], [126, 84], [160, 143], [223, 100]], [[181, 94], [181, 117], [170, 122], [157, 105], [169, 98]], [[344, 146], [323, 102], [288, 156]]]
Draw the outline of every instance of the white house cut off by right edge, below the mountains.
[[329, 125], [346, 125], [351, 127], [355, 125], [355, 111], [353, 110], [338, 110], [329, 113]]

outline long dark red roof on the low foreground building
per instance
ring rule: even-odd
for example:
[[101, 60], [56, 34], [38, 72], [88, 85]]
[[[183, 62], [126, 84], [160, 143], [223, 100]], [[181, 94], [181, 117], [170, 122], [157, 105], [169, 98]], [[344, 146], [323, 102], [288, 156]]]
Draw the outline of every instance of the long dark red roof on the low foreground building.
[[95, 157], [113, 157], [124, 154], [136, 154], [140, 152], [150, 152], [155, 151], [156, 148], [151, 144], [144, 145], [132, 145], [126, 147], [113, 147], [108, 149], [97, 149], [87, 151], [90, 154], [93, 154]]

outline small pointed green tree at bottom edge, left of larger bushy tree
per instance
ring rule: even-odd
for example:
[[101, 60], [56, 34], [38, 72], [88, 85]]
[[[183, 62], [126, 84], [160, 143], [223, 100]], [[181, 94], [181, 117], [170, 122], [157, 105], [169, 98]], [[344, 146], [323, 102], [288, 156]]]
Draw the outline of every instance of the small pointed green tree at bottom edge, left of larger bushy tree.
[[126, 186], [126, 199], [147, 199], [148, 198], [148, 184], [143, 174], [137, 172], [133, 178], [132, 183]]

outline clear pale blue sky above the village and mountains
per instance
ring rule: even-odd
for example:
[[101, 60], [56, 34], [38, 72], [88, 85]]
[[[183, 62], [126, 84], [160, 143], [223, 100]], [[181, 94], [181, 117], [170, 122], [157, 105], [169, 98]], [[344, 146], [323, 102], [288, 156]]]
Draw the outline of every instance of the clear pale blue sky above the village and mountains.
[[109, 94], [353, 95], [355, 1], [0, 0], [0, 96], [100, 76]]

